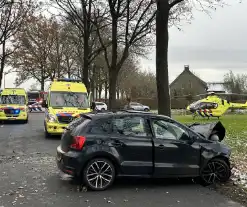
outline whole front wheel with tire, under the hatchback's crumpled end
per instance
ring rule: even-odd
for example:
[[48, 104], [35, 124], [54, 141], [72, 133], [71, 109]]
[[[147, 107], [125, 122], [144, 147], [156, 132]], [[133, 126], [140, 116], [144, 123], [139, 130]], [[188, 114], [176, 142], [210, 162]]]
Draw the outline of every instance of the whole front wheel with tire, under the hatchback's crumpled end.
[[212, 159], [201, 170], [200, 181], [203, 186], [225, 183], [231, 177], [229, 164], [223, 159]]

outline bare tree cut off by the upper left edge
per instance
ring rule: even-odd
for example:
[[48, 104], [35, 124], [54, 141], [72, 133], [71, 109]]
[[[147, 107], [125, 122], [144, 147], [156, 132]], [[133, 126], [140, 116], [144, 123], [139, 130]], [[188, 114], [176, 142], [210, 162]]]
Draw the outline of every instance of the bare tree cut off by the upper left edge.
[[19, 31], [24, 19], [33, 11], [32, 0], [1, 0], [0, 1], [0, 86], [7, 58], [12, 54], [9, 41]]

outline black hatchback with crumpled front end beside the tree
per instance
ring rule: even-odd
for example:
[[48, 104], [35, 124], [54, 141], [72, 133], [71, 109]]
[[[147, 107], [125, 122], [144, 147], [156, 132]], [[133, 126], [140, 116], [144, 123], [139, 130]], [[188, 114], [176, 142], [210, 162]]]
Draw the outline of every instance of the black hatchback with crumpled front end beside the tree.
[[231, 176], [231, 150], [218, 123], [183, 125], [148, 112], [84, 114], [65, 129], [57, 165], [91, 190], [116, 176], [199, 177], [204, 184]]

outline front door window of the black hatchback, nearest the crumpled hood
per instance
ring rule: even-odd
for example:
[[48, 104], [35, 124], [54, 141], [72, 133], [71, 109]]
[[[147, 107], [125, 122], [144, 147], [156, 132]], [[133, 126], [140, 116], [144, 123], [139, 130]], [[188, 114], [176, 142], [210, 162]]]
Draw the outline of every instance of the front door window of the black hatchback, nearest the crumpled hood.
[[188, 132], [177, 124], [164, 120], [153, 120], [152, 128], [155, 138], [158, 139], [181, 140], [184, 136], [189, 137]]

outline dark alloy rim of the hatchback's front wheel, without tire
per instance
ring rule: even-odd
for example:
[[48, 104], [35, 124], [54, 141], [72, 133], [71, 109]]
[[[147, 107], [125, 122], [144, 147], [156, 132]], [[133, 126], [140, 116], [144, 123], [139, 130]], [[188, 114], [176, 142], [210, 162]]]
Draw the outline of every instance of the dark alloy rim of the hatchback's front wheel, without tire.
[[209, 184], [221, 182], [226, 174], [226, 167], [220, 162], [210, 162], [202, 172], [202, 178]]

